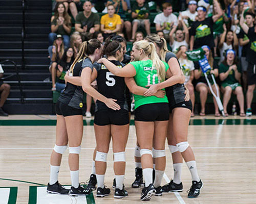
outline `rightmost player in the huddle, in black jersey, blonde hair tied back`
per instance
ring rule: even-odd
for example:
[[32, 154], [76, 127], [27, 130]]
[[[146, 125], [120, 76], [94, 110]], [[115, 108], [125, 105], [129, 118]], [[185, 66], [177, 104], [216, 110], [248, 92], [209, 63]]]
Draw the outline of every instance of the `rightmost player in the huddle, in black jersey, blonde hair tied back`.
[[184, 99], [184, 84], [178, 82], [180, 80], [180, 72], [182, 72], [179, 61], [173, 53], [168, 51], [164, 38], [160, 38], [155, 34], [150, 34], [145, 39], [156, 44], [158, 55], [161, 60], [168, 63], [172, 72], [172, 77], [165, 82], [152, 85], [144, 94], [145, 96], [150, 96], [157, 90], [165, 88], [169, 101], [170, 115], [167, 129], [167, 141], [173, 158], [174, 178], [169, 184], [163, 186], [162, 190], [164, 192], [183, 191], [181, 182], [183, 158], [193, 180], [192, 186], [188, 192], [188, 197], [195, 198], [200, 194], [203, 183], [197, 172], [193, 150], [187, 142], [188, 124], [192, 111], [192, 104], [190, 100], [186, 101]]

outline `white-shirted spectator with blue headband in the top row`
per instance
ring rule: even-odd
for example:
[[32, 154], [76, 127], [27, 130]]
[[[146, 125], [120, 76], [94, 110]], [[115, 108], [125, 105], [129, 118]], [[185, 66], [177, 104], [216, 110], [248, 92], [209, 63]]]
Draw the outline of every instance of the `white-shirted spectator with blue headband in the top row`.
[[188, 2], [188, 10], [182, 11], [181, 16], [187, 27], [190, 27], [192, 21], [196, 21], [197, 17], [197, 1], [191, 0]]

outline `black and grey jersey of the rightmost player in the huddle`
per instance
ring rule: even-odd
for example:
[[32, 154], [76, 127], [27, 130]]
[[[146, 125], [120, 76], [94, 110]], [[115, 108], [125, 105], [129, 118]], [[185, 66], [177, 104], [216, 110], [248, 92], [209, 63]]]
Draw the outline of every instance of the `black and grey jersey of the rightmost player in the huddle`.
[[[176, 58], [176, 55], [174, 53], [167, 52], [165, 56], [165, 62], [168, 63], [168, 61], [171, 58]], [[178, 59], [177, 59], [178, 60]], [[179, 60], [178, 60], [179, 63]], [[180, 65], [180, 63], [179, 63]], [[172, 69], [172, 67], [170, 67]], [[169, 106], [174, 106], [178, 103], [182, 103], [185, 98], [185, 86], [184, 84], [175, 84], [173, 86], [169, 86], [165, 88], [166, 96], [169, 101]]]

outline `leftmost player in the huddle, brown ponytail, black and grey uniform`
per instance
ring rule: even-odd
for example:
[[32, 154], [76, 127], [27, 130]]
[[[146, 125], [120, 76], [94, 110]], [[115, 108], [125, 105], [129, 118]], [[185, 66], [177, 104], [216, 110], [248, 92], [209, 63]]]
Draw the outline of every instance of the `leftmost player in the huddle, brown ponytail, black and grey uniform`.
[[[83, 42], [81, 49], [70, 73], [75, 80], [81, 75], [84, 68], [93, 69], [93, 62], [101, 57], [102, 44], [95, 39]], [[79, 185], [79, 154], [81, 150], [83, 119], [82, 119], [82, 88], [67, 83], [65, 90], [61, 93], [56, 103], [56, 143], [51, 155], [50, 182], [47, 186], [48, 193], [69, 194], [69, 190], [58, 183], [58, 172], [62, 154], [69, 144], [69, 167], [71, 174], [70, 195], [78, 196], [90, 194], [90, 189], [84, 189]]]

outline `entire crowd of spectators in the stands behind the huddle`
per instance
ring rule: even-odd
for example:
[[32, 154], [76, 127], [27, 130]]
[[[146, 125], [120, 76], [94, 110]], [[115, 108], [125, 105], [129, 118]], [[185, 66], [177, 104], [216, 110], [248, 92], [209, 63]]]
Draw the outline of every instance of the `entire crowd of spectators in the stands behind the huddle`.
[[[237, 95], [240, 116], [249, 116], [256, 83], [255, 6], [254, 0], [56, 0], [48, 49], [52, 90], [63, 90], [63, 74], [82, 41], [97, 38], [104, 43], [108, 36], [116, 34], [123, 36], [131, 47], [133, 42], [154, 32], [165, 38], [168, 49], [177, 55], [193, 107], [195, 91], [199, 92], [199, 115], [207, 112], [210, 89], [199, 63], [189, 61], [186, 52], [202, 48], [211, 66], [209, 73], [215, 75], [217, 88], [223, 93], [226, 116], [231, 94]], [[129, 48], [127, 51], [129, 55]], [[213, 85], [212, 89], [217, 91]], [[215, 98], [214, 105], [218, 117]]]

